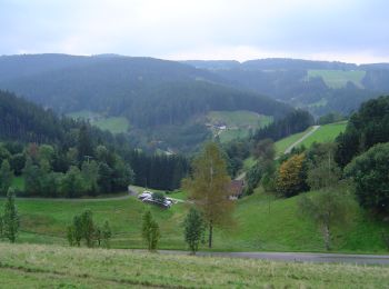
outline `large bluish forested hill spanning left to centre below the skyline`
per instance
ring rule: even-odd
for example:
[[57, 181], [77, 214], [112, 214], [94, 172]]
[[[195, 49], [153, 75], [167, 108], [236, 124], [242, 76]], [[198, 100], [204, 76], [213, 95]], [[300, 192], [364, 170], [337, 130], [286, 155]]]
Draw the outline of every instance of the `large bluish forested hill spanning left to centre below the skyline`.
[[[275, 119], [293, 110], [256, 91], [235, 87], [209, 70], [116, 54], [0, 57], [0, 89], [58, 113], [88, 110], [104, 118], [126, 117], [133, 139], [143, 146], [159, 143], [161, 149], [179, 149], [183, 142], [189, 148], [207, 139], [208, 130], [198, 120], [211, 110], [248, 110]], [[127, 131], [111, 127], [111, 131]], [[193, 131], [198, 133], [194, 139], [180, 139], [182, 133]]]

